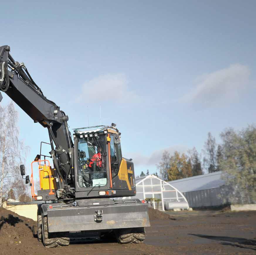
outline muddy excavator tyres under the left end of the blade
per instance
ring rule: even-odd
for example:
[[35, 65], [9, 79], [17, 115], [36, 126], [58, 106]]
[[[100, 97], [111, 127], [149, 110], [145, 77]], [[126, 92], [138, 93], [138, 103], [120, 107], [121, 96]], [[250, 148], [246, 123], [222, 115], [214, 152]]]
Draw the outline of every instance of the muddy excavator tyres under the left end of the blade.
[[43, 243], [46, 248], [55, 248], [55, 247], [69, 245], [68, 232], [49, 233], [47, 216], [43, 217], [43, 224], [44, 224], [43, 225], [43, 231], [44, 231]]

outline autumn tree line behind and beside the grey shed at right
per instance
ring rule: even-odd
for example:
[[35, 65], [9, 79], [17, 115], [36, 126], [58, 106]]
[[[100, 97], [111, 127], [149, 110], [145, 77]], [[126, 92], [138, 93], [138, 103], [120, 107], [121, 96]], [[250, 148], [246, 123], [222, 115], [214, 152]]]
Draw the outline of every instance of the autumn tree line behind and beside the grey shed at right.
[[[225, 180], [223, 198], [230, 203], [256, 203], [256, 126], [241, 130], [227, 128], [220, 134], [221, 143], [209, 132], [204, 149], [187, 153], [167, 151], [157, 165], [165, 181], [187, 178], [205, 173], [221, 172]], [[227, 195], [228, 194], [228, 195]]]

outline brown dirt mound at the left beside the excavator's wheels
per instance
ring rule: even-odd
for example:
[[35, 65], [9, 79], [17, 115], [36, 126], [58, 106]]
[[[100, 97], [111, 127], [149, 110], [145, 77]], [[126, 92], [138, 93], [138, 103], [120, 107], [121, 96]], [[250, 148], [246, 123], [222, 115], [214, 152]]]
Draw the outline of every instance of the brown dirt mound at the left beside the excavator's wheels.
[[[4, 208], [0, 208], [0, 254], [27, 254], [40, 244], [33, 238], [37, 223]], [[43, 245], [42, 245], [43, 248]]]

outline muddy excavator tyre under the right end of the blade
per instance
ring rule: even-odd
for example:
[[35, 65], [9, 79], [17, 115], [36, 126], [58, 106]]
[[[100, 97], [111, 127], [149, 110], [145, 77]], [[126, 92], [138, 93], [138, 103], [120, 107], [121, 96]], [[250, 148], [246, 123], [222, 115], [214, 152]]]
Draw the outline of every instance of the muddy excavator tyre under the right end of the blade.
[[116, 239], [120, 244], [140, 244], [145, 240], [144, 227], [117, 229], [115, 233]]

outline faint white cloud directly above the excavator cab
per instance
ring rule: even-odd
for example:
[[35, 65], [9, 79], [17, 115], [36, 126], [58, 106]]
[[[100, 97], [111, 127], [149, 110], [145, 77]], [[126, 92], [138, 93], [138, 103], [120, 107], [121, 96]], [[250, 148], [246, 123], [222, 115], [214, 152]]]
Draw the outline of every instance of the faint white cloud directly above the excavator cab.
[[122, 102], [130, 103], [139, 96], [128, 89], [128, 80], [124, 74], [106, 74], [86, 81], [82, 85], [79, 102]]

